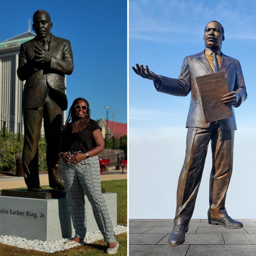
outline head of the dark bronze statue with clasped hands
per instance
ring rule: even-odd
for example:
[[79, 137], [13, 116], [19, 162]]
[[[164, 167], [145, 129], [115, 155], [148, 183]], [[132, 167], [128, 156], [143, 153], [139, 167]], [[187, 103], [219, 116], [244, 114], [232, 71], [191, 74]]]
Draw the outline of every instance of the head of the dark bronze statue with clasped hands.
[[33, 15], [33, 30], [39, 37], [46, 37], [50, 34], [52, 22], [50, 14], [44, 10], [38, 10]]

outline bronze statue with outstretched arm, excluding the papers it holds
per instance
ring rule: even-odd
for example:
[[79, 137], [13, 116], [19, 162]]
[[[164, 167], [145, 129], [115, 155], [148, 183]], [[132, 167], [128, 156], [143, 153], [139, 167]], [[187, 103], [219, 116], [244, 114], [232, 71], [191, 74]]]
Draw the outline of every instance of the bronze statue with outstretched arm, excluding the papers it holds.
[[[168, 244], [171, 246], [185, 241], [185, 233], [188, 231], [188, 224], [194, 211], [210, 141], [212, 171], [208, 222], [212, 225], [220, 224], [225, 228], [243, 227], [241, 222], [228, 216], [225, 199], [233, 166], [234, 130], [236, 130], [233, 107], [239, 107], [246, 100], [247, 93], [239, 61], [221, 52], [224, 39], [222, 25], [218, 21], [210, 21], [204, 29], [204, 51], [185, 57], [178, 79], [156, 75], [149, 71], [148, 66], [143, 68], [143, 65], [136, 64], [136, 68], [132, 67], [136, 74], [153, 80], [158, 92], [186, 96], [191, 91], [186, 124], [188, 128], [186, 156], [178, 182], [174, 228], [168, 239]], [[229, 88], [229, 93], [222, 96], [222, 101], [232, 106], [233, 117], [206, 123], [196, 77], [219, 71], [224, 72]]]

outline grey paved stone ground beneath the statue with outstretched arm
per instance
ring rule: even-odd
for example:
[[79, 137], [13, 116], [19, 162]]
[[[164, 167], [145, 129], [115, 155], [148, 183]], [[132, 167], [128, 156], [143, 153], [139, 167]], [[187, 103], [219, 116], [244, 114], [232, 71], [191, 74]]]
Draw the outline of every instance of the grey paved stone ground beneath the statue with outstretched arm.
[[185, 243], [169, 246], [173, 219], [130, 219], [129, 256], [256, 256], [256, 219], [237, 220], [243, 222], [243, 228], [191, 219]]

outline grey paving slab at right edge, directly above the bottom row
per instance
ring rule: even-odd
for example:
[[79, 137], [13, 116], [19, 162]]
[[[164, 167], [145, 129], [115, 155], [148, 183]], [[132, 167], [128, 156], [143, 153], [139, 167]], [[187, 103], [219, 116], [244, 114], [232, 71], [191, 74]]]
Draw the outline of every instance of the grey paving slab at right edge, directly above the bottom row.
[[223, 238], [225, 244], [256, 244], [256, 234], [223, 234]]

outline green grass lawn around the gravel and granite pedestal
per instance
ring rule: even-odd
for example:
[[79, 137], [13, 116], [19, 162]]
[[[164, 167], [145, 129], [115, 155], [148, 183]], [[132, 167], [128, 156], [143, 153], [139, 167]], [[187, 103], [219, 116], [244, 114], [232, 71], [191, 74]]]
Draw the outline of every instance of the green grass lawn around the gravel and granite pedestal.
[[[127, 180], [101, 181], [101, 187], [106, 188], [106, 192], [117, 193], [117, 224], [127, 226]], [[42, 188], [49, 188], [49, 186], [42, 186]], [[127, 233], [117, 235], [116, 240], [120, 244], [116, 255], [126, 256]], [[106, 250], [107, 244], [104, 242], [103, 239], [92, 244], [80, 245], [75, 248], [70, 248], [65, 251], [54, 253], [25, 250], [11, 245], [0, 244], [1, 256], [97, 256], [107, 255], [105, 253]]]

